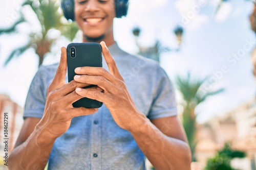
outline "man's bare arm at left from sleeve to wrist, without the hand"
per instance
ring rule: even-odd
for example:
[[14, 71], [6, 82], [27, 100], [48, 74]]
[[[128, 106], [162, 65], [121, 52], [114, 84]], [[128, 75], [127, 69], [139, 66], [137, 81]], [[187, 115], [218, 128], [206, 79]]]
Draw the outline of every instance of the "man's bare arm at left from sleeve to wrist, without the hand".
[[26, 118], [9, 157], [9, 169], [44, 169], [50, 156], [54, 139], [42, 135], [44, 130], [36, 126], [39, 118]]

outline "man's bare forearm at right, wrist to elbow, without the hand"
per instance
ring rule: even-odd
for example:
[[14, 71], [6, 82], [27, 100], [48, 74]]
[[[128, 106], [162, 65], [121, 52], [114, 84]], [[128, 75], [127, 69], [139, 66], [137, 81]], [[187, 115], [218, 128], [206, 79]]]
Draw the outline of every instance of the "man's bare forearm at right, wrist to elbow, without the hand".
[[185, 141], [166, 136], [146, 117], [141, 117], [141, 122], [130, 132], [156, 169], [190, 169], [191, 154]]

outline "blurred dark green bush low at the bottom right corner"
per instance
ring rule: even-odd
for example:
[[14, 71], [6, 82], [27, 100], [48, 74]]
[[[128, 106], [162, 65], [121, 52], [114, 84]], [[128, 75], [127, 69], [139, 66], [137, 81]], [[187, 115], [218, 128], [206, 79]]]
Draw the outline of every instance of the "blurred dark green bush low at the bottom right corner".
[[225, 143], [222, 150], [218, 151], [214, 157], [207, 160], [204, 170], [239, 170], [232, 168], [230, 161], [233, 158], [244, 158], [245, 156], [245, 152], [233, 150], [230, 144]]

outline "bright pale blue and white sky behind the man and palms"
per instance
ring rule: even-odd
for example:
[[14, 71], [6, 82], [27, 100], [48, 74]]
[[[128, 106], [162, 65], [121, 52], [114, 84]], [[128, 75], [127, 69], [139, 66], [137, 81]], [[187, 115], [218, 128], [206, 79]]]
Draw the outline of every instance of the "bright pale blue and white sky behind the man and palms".
[[[21, 2], [1, 2], [0, 28], [8, 27], [18, 17]], [[165, 52], [160, 56], [160, 65], [170, 80], [175, 85], [177, 76], [186, 77], [190, 72], [193, 80], [209, 78], [200, 89], [202, 93], [225, 89], [196, 108], [199, 123], [235, 109], [252, 100], [256, 94], [250, 58], [256, 46], [255, 33], [249, 23], [253, 4], [251, 1], [230, 0], [223, 3], [217, 12], [218, 4], [219, 0], [132, 0], [127, 17], [114, 21], [116, 41], [124, 51], [132, 54], [138, 51], [132, 34], [134, 27], [141, 28], [141, 46], [151, 46], [159, 40], [173, 49], [177, 47], [173, 30], [177, 25], [183, 27], [180, 51]], [[33, 20], [29, 12], [27, 16]], [[36, 24], [30, 27], [38, 29]], [[33, 50], [29, 50], [6, 67], [3, 63], [15, 46], [24, 42], [23, 35], [0, 37], [0, 93], [9, 95], [22, 107], [37, 71], [38, 59]], [[61, 39], [53, 47], [53, 53], [47, 55], [44, 64], [58, 62], [60, 46], [67, 44], [68, 41]], [[179, 94], [177, 100], [181, 100]]]

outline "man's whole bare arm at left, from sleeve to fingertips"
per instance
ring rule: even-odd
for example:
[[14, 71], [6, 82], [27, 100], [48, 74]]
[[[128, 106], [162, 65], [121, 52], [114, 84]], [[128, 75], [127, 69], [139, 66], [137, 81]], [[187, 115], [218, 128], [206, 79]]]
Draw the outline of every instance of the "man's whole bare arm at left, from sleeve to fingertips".
[[[73, 117], [93, 114], [97, 109], [74, 108], [72, 103], [82, 98], [74, 90], [89, 84], [71, 81], [65, 83], [67, 72], [66, 48], [61, 48], [61, 58], [55, 77], [47, 90], [45, 111], [41, 119], [26, 118], [16, 148], [9, 157], [9, 169], [44, 169], [54, 141], [65, 133]], [[97, 87], [89, 90], [102, 91]]]

